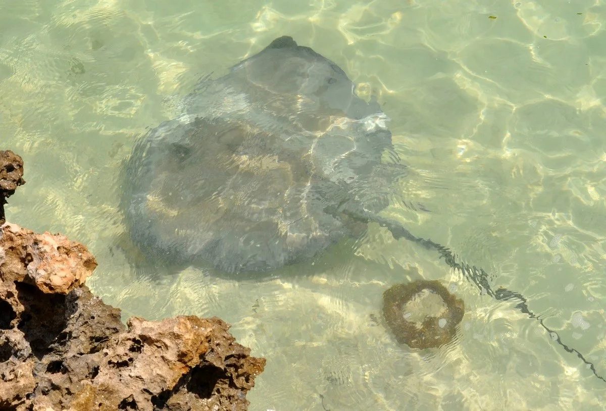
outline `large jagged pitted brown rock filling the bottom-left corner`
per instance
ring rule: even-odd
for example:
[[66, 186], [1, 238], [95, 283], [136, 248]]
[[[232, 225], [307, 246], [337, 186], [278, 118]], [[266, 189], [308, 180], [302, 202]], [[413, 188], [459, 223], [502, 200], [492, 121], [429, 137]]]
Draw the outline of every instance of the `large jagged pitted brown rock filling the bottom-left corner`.
[[219, 318], [130, 318], [62, 235], [0, 226], [0, 410], [246, 410], [265, 359]]

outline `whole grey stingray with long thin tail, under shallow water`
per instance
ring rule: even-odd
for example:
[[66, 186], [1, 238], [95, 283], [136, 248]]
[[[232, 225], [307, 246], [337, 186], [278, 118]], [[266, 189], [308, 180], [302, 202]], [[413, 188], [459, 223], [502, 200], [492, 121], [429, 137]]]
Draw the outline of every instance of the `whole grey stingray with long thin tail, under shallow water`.
[[524, 296], [493, 290], [483, 269], [381, 216], [408, 170], [388, 122], [335, 62], [275, 39], [227, 75], [202, 79], [176, 118], [135, 145], [121, 201], [130, 236], [147, 258], [237, 275], [307, 261], [376, 222], [437, 251], [482, 293], [517, 301], [604, 380]]

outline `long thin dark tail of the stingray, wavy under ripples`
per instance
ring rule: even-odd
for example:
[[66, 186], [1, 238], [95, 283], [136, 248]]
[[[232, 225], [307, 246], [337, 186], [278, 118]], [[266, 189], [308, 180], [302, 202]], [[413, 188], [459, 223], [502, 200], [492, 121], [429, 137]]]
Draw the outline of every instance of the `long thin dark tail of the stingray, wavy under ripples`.
[[484, 271], [484, 269], [476, 266], [470, 266], [465, 262], [458, 261], [456, 255], [451, 252], [451, 250], [447, 247], [444, 247], [441, 244], [438, 244], [437, 242], [433, 242], [430, 239], [420, 238], [413, 235], [410, 231], [405, 229], [398, 222], [390, 221], [380, 216], [370, 215], [367, 213], [363, 213], [362, 215], [355, 215], [352, 217], [366, 222], [378, 222], [382, 227], [385, 227], [390, 230], [391, 235], [393, 235], [393, 238], [395, 239], [405, 238], [408, 241], [415, 242], [416, 244], [425, 247], [425, 249], [437, 251], [440, 255], [440, 258], [444, 258], [444, 261], [446, 262], [446, 264], [448, 264], [449, 267], [451, 267], [451, 269], [461, 272], [462, 275], [464, 275], [465, 278], [468, 279], [468, 281], [473, 282], [473, 284], [478, 287], [482, 294], [488, 294], [492, 298], [497, 299], [499, 301], [508, 301], [510, 299], [519, 301], [518, 305], [516, 305], [516, 309], [520, 310], [529, 318], [536, 319], [539, 324], [541, 324], [541, 327], [547, 330], [552, 341], [555, 341], [559, 345], [564, 347], [564, 350], [566, 350], [567, 352], [575, 353], [579, 357], [579, 359], [581, 359], [581, 361], [587, 364], [588, 368], [591, 370], [591, 372], [593, 372], [593, 375], [595, 375], [596, 377], [604, 381], [604, 383], [606, 383], [606, 379], [604, 379], [604, 377], [598, 374], [598, 372], [596, 371], [596, 367], [593, 363], [588, 361], [585, 356], [582, 355], [578, 350], [567, 346], [567, 344], [564, 344], [557, 332], [545, 326], [542, 318], [540, 318], [538, 315], [534, 314], [530, 311], [530, 309], [528, 309], [528, 300], [522, 294], [507, 290], [505, 288], [499, 288], [498, 290], [494, 291], [490, 286], [490, 276], [487, 272]]

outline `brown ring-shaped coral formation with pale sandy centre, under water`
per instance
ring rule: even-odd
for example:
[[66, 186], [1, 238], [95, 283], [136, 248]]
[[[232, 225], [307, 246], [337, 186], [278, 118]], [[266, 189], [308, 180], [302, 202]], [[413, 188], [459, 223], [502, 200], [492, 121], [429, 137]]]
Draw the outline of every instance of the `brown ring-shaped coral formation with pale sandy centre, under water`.
[[[446, 309], [439, 316], [425, 316], [419, 327], [408, 321], [410, 314], [406, 313], [406, 306], [425, 290], [438, 295]], [[437, 280], [395, 284], [383, 293], [383, 317], [396, 340], [410, 348], [434, 348], [450, 342], [464, 312], [463, 300], [449, 293]]]

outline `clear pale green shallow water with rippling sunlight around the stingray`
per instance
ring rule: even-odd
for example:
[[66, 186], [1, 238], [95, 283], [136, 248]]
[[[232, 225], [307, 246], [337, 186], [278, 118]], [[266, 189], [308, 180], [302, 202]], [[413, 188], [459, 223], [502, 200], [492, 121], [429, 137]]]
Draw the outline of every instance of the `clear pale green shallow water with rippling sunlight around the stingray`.
[[[88, 284], [125, 317], [233, 324], [268, 359], [251, 410], [605, 409], [606, 383], [515, 302], [379, 227], [279, 279], [158, 282], [134, 275], [118, 209], [122, 161], [176, 95], [293, 36], [391, 117], [413, 170], [402, 192], [432, 213], [387, 215], [522, 293], [605, 376], [604, 24], [606, 5], [585, 0], [3, 1], [0, 148], [27, 180], [7, 215], [86, 244]], [[465, 301], [441, 349], [400, 346], [372, 319], [385, 289], [417, 278]]]

